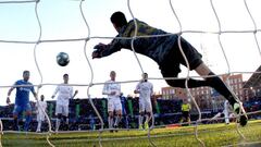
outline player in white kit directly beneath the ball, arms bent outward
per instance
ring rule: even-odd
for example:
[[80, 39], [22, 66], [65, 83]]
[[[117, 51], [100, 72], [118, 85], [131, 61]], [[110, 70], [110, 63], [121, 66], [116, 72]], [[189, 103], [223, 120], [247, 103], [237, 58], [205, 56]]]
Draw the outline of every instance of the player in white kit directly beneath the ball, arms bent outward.
[[73, 99], [78, 94], [78, 90], [75, 90], [75, 93], [73, 94], [73, 87], [67, 85], [69, 74], [63, 75], [63, 81], [64, 83], [59, 85], [52, 95], [52, 98], [54, 98], [55, 95], [59, 93], [55, 107], [55, 132], [59, 131], [61, 122], [65, 122], [65, 124], [69, 125], [69, 100]]

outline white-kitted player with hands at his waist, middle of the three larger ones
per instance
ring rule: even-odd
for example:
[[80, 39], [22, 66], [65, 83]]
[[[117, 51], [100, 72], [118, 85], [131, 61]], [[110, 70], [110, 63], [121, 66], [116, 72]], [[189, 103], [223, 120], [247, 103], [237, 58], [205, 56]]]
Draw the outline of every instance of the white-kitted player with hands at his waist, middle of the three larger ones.
[[[108, 123], [109, 130], [113, 130], [113, 127], [117, 127], [120, 120], [122, 119], [122, 102], [121, 102], [121, 85], [115, 82], [116, 73], [111, 71], [110, 73], [110, 81], [107, 81], [103, 89], [102, 95], [108, 96]], [[114, 111], [115, 111], [115, 122], [114, 119]], [[114, 123], [113, 123], [114, 122]]]

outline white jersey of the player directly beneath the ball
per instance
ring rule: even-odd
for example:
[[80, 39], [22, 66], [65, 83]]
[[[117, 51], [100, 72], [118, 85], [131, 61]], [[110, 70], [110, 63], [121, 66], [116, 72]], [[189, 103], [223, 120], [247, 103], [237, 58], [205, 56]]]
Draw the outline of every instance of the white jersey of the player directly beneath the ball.
[[57, 105], [69, 106], [69, 99], [73, 98], [73, 87], [69, 85], [59, 85], [53, 96], [58, 93]]

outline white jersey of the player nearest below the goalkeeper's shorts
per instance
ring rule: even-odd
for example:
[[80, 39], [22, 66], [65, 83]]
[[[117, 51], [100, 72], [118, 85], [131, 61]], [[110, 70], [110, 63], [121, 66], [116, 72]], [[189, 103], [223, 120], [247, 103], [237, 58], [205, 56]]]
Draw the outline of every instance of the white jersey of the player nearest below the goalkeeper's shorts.
[[150, 99], [153, 94], [153, 85], [150, 82], [139, 82], [136, 90], [139, 91], [139, 98]]

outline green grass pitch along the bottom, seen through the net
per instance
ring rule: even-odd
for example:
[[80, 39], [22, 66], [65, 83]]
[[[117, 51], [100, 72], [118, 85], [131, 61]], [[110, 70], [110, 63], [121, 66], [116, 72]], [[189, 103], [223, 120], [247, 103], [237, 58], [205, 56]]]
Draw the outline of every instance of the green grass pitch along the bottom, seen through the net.
[[[225, 125], [202, 124], [198, 125], [198, 137], [207, 147], [220, 146], [261, 146], [261, 121], [249, 121], [239, 131], [246, 139], [243, 139], [236, 130], [235, 123]], [[148, 147], [148, 131], [119, 131], [101, 133], [102, 147]], [[51, 134], [50, 142], [55, 147], [99, 147], [99, 132], [75, 132]], [[151, 131], [151, 139], [158, 147], [194, 147], [200, 146], [195, 138], [195, 126], [162, 127]], [[4, 133], [1, 136], [3, 147], [48, 147], [46, 134]]]

